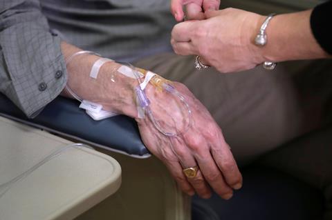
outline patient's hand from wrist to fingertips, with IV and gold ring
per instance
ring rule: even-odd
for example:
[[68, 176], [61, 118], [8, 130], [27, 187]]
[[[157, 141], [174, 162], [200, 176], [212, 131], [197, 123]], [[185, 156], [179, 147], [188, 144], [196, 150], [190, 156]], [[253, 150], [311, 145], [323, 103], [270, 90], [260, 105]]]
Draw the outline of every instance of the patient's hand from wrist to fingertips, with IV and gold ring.
[[[210, 185], [221, 197], [230, 199], [232, 188], [241, 188], [242, 177], [221, 129], [190, 90], [181, 83], [174, 83], [174, 87], [183, 94], [190, 106], [192, 114], [189, 129], [185, 129], [185, 125], [179, 126], [184, 129], [183, 134], [167, 137], [158, 132], [150, 120], [136, 119], [142, 140], [147, 148], [165, 163], [184, 192], [192, 195], [196, 191], [199, 196], [208, 198], [211, 195]], [[151, 86], [146, 93], [151, 101], [151, 109], [160, 121], [169, 121], [169, 116], [167, 113], [158, 114], [158, 106], [153, 103], [163, 106], [168, 114], [172, 114], [174, 121], [185, 123], [183, 114], [176, 111], [178, 107], [176, 102], [172, 101], [174, 98]], [[183, 168], [194, 166], [199, 166], [197, 176], [185, 177]]]

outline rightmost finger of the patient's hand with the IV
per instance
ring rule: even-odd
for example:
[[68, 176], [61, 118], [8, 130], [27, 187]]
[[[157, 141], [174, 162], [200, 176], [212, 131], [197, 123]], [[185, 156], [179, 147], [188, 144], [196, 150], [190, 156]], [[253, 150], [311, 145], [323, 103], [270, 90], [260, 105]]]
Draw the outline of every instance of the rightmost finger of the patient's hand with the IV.
[[[222, 135], [222, 134], [221, 134]], [[237, 163], [230, 151], [230, 147], [225, 142], [223, 137], [212, 142], [211, 154], [216, 161], [216, 165], [223, 173], [226, 183], [234, 190], [239, 190], [242, 187], [242, 176]]]

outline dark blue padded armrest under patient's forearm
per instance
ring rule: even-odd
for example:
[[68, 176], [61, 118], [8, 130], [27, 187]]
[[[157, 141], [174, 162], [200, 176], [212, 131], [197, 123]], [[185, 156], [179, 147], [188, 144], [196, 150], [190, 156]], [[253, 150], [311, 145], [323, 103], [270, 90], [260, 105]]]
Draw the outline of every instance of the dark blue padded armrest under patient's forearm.
[[149, 157], [136, 121], [118, 115], [101, 121], [94, 121], [78, 108], [77, 101], [57, 97], [34, 119], [28, 119], [7, 97], [0, 94], [0, 114], [37, 128], [49, 130], [66, 137], [82, 141], [108, 150], [129, 154], [132, 157]]

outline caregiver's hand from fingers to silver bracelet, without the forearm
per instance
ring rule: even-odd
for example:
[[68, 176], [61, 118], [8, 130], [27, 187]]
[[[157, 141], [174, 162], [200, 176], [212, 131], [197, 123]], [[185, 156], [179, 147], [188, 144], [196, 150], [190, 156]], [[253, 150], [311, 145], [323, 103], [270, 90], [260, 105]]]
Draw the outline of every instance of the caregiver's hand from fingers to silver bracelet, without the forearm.
[[171, 43], [177, 54], [197, 54], [219, 72], [248, 70], [265, 61], [253, 43], [265, 17], [234, 8], [205, 15], [206, 20], [174, 26]]

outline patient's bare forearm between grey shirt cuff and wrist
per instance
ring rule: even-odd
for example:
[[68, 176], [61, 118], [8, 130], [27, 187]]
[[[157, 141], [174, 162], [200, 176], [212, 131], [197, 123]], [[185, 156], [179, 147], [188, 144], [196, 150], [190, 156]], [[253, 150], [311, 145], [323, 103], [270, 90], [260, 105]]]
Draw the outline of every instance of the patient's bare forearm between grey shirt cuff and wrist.
[[[62, 42], [61, 48], [65, 59], [81, 50], [65, 42]], [[81, 99], [101, 104], [104, 110], [136, 117], [134, 88], [138, 85], [137, 80], [120, 74], [117, 70], [121, 64], [116, 62], [104, 63], [97, 79], [90, 77], [93, 63], [99, 58], [93, 54], [75, 56], [67, 63], [67, 86]], [[71, 97], [66, 89], [62, 95]]]

